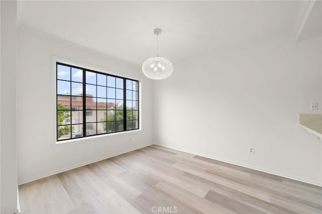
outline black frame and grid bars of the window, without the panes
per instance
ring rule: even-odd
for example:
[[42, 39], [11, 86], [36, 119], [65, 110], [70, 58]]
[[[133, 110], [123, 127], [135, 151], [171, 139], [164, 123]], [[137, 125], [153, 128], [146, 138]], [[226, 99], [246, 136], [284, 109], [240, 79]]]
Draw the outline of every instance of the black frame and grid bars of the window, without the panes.
[[[66, 80], [66, 79], [63, 79], [63, 78], [58, 78], [58, 66], [61, 65], [61, 66], [67, 66], [69, 67], [69, 80]], [[80, 81], [75, 81], [75, 80], [72, 80], [72, 68], [74, 69], [78, 69], [78, 70], [82, 70], [82, 82]], [[96, 84], [94, 83], [88, 83], [86, 82], [86, 73], [87, 72], [92, 72], [92, 73], [95, 73], [96, 75]], [[98, 84], [98, 74], [101, 75], [104, 75], [106, 76], [106, 85], [101, 85], [101, 84]], [[114, 87], [112, 86], [108, 86], [108, 77], [114, 77], [115, 78], [115, 85]], [[120, 88], [120, 87], [117, 87], [117, 80], [122, 80], [123, 81], [123, 88]], [[68, 82], [69, 83], [69, 94], [67, 92], [67, 94], [62, 94], [62, 93], [58, 93], [58, 81], [64, 81], [64, 82]], [[133, 84], [135, 84], [135, 88], [127, 88], [127, 83], [131, 82], [132, 86]], [[76, 93], [73, 94], [72, 93], [72, 83], [76, 83], [76, 84], [82, 84], [82, 87], [83, 87], [83, 91], [81, 91], [82, 93]], [[89, 95], [89, 93], [87, 93], [87, 85], [91, 85], [91, 86], [95, 86], [96, 88], [96, 93], [95, 93], [95, 96], [91, 96]], [[115, 97], [114, 98], [108, 98], [108, 93], [106, 95], [106, 97], [99, 97], [98, 96], [98, 86], [99, 87], [105, 87], [106, 88], [106, 92], [108, 91], [108, 89], [115, 89]], [[117, 90], [120, 91], [120, 90], [123, 90], [123, 98], [117, 98]], [[77, 90], [77, 89], [76, 89]], [[135, 94], [135, 98], [133, 97], [127, 97], [127, 93], [132, 93], [132, 95], [134, 96]], [[58, 99], [59, 97], [64, 97], [65, 99]], [[75, 109], [74, 106], [72, 105], [72, 100], [75, 100], [75, 99], [81, 99], [81, 103], [82, 103], [82, 108], [77, 108]], [[88, 110], [88, 106], [87, 106], [87, 100], [89, 98], [93, 98], [94, 102], [93, 103], [96, 103], [95, 105], [95, 108], [91, 109], [91, 110]], [[92, 69], [87, 69], [87, 68], [84, 68], [84, 67], [79, 67], [79, 66], [75, 66], [75, 65], [70, 65], [70, 64], [65, 64], [65, 63], [61, 63], [61, 62], [56, 62], [56, 141], [58, 142], [61, 142], [61, 141], [66, 141], [66, 140], [73, 140], [73, 139], [79, 139], [79, 138], [87, 138], [87, 137], [91, 137], [91, 136], [97, 136], [97, 135], [108, 135], [108, 134], [111, 134], [111, 133], [120, 133], [120, 132], [127, 132], [127, 131], [132, 131], [132, 130], [138, 130], [139, 127], [140, 127], [140, 120], [139, 120], [139, 81], [138, 80], [135, 80], [135, 79], [131, 79], [131, 78], [127, 78], [127, 77], [122, 77], [122, 76], [117, 76], [117, 75], [113, 75], [113, 74], [108, 74], [108, 73], [105, 73], [105, 72], [100, 72], [100, 71], [95, 71], [95, 70], [92, 70]], [[98, 108], [98, 99], [106, 99], [106, 102], [105, 102], [105, 110], [101, 110]], [[114, 99], [114, 108], [113, 106], [111, 107], [111, 109], [108, 109], [108, 105], [110, 102], [108, 102], [108, 100], [112, 100]], [[63, 105], [64, 108], [66, 109], [58, 109], [58, 100], [65, 100], [67, 101], [66, 103], [68, 103], [69, 101], [69, 105]], [[117, 100], [121, 100], [123, 101], [123, 109], [122, 109], [122, 106], [120, 107], [121, 109], [117, 109]], [[79, 100], [78, 100], [79, 101]], [[134, 104], [135, 102], [135, 104]], [[101, 102], [101, 103], [104, 103], [104, 102]], [[127, 103], [131, 103], [129, 104], [129, 106], [127, 106]], [[111, 103], [110, 103], [111, 104]], [[133, 109], [133, 106], [135, 106], [135, 109]], [[90, 108], [89, 108], [90, 109]], [[114, 110], [114, 111], [113, 111]], [[62, 111], [64, 113], [64, 115], [68, 115], [70, 114], [69, 116], [69, 122], [66, 122], [66, 119], [65, 119], [65, 122], [64, 124], [58, 124], [58, 112]], [[88, 116], [88, 111], [96, 111], [95, 115], [96, 115], [96, 121], [95, 122], [87, 122], [87, 116]], [[102, 121], [102, 119], [99, 119], [98, 118], [98, 113], [99, 112], [102, 112], [102, 111], [105, 111], [105, 115], [104, 119], [106, 119], [106, 121]], [[67, 113], [66, 113], [67, 112]], [[80, 121], [78, 120], [78, 124], [73, 124], [72, 121], [72, 113], [73, 112], [78, 112], [78, 115], [79, 114], [82, 114], [82, 121], [83, 123], [80, 123]], [[114, 121], [109, 121], [108, 119], [108, 112], [111, 112], [111, 114], [115, 114], [115, 120]], [[115, 113], [113, 113], [115, 112]], [[123, 120], [117, 120], [117, 112], [121, 113], [123, 112]], [[134, 112], [135, 112], [135, 118], [133, 118], [133, 115], [134, 115]], [[130, 113], [130, 114], [129, 114]], [[93, 113], [92, 113], [93, 114]], [[123, 129], [122, 129], [122, 122], [123, 122]], [[105, 133], [99, 133], [99, 130], [98, 130], [98, 125], [99, 123], [104, 127], [104, 123], [106, 124], [106, 127], [103, 128]], [[108, 123], [110, 123], [110, 125], [112, 126], [115, 126], [115, 130], [112, 130], [112, 131], [109, 131], [108, 130]], [[115, 125], [113, 125], [113, 123], [115, 123]], [[93, 133], [93, 130], [87, 130], [87, 127], [90, 127], [89, 125], [91, 125], [91, 127], [94, 127], [94, 125], [96, 124], [96, 133], [94, 132]], [[132, 124], [132, 128], [129, 129], [129, 124]], [[77, 132], [77, 133], [73, 133], [73, 126], [74, 125], [81, 125], [83, 126], [82, 127], [82, 132]], [[93, 125], [93, 126], [92, 126]], [[67, 136], [67, 138], [63, 138], [63, 139], [59, 139], [59, 135], [58, 135], [58, 131], [60, 128], [65, 128], [69, 126], [69, 129], [70, 129], [70, 132], [69, 132], [69, 137]], [[111, 126], [110, 126], [111, 127]], [[112, 127], [113, 128], [113, 127]], [[73, 135], [74, 134], [74, 135]], [[75, 136], [75, 137], [73, 137]]]

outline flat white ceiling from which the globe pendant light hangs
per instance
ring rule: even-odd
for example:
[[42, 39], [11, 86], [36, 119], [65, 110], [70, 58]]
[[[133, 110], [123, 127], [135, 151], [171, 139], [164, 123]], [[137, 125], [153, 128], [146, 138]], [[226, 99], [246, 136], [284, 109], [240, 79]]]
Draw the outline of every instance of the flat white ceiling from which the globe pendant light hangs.
[[18, 1], [18, 23], [141, 66], [159, 56], [174, 66], [295, 35], [300, 1]]

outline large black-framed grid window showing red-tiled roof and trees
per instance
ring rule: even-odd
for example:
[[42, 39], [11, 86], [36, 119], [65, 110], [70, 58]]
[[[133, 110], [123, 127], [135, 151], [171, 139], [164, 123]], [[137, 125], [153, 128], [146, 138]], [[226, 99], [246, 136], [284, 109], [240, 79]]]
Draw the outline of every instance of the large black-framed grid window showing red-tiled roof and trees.
[[56, 63], [57, 141], [139, 128], [138, 81]]

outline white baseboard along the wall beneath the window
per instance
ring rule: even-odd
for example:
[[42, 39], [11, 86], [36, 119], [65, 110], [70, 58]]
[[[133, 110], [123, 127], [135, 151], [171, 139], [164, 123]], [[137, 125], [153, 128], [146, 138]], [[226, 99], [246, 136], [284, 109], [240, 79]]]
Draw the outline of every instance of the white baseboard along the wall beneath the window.
[[34, 177], [31, 177], [31, 178], [20, 180], [20, 181], [18, 181], [18, 185], [21, 185], [21, 184], [24, 184], [24, 183], [29, 183], [29, 182], [34, 181], [34, 180], [38, 180], [38, 179], [41, 179], [41, 178], [44, 178], [44, 177], [55, 175], [55, 174], [58, 174], [58, 173], [61, 173], [61, 172], [65, 172], [65, 171], [68, 171], [68, 170], [71, 170], [71, 169], [74, 169], [74, 168], [77, 168], [77, 167], [85, 166], [85, 165], [88, 165], [88, 164], [91, 164], [91, 163], [95, 163], [95, 162], [98, 162], [98, 161], [101, 161], [101, 160], [105, 160], [107, 158], [111, 158], [111, 157], [114, 157], [114, 156], [117, 156], [117, 155], [121, 155], [121, 154], [131, 152], [131, 151], [134, 151], [134, 150], [137, 150], [137, 149], [141, 149], [141, 148], [144, 148], [144, 147], [147, 147], [147, 146], [150, 146], [150, 145], [152, 145], [152, 144], [146, 144], [146, 145], [143, 145], [143, 146], [131, 148], [131, 149], [128, 149], [128, 150], [125, 150], [125, 151], [122, 151], [122, 152], [117, 152], [117, 153], [114, 153], [114, 154], [111, 154], [111, 155], [96, 158], [94, 160], [85, 161], [85, 162], [75, 164], [75, 165], [72, 165], [72, 166], [68, 166], [68, 167], [65, 167], [65, 168], [62, 168], [62, 169], [54, 170], [54, 171], [51, 171], [51, 172], [48, 172], [48, 173], [45, 173], [45, 174], [41, 174], [41, 175], [38, 175], [38, 176], [34, 176]]

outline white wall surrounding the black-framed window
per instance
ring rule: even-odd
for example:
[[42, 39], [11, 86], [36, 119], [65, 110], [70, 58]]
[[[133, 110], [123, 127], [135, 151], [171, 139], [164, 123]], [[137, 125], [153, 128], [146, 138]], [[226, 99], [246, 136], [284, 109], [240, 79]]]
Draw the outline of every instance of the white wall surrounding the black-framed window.
[[[55, 138], [52, 55], [141, 81], [142, 131], [99, 137], [89, 142], [51, 145]], [[152, 81], [143, 76], [139, 66], [21, 28], [17, 74], [18, 183], [150, 145], [152, 89]]]

